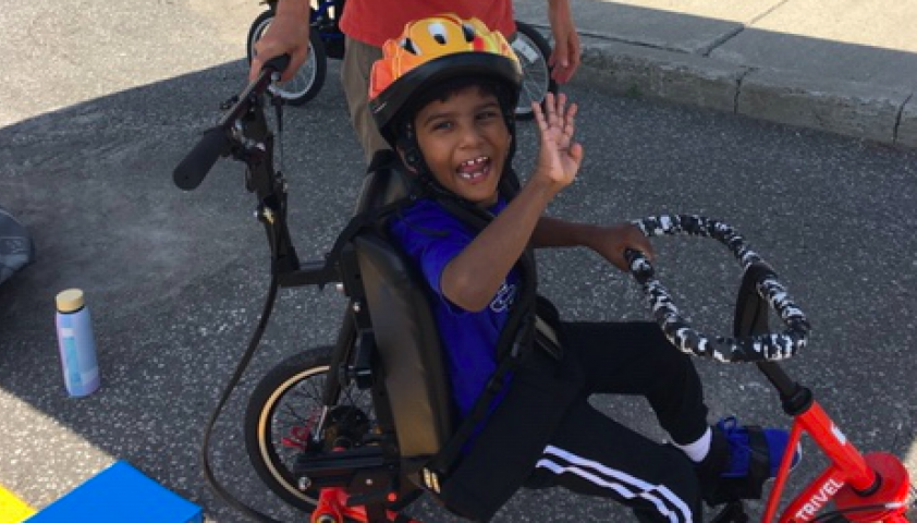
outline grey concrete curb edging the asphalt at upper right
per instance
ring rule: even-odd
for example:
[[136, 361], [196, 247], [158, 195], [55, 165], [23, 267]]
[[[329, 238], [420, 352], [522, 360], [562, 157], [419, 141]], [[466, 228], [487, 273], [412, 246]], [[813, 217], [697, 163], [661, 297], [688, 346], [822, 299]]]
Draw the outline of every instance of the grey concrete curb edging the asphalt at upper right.
[[913, 93], [580, 35], [574, 83], [917, 148]]

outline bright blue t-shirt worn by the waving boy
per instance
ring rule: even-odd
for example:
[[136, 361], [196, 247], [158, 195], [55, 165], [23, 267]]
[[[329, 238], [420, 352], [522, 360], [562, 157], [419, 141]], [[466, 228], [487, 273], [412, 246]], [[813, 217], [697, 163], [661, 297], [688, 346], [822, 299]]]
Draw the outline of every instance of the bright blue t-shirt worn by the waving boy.
[[[488, 210], [497, 215], [505, 206], [501, 199]], [[510, 271], [490, 305], [468, 312], [442, 294], [440, 280], [445, 266], [472, 243], [476, 231], [436, 202], [420, 199], [392, 221], [391, 232], [438, 297], [432, 304], [433, 317], [447, 353], [452, 393], [464, 417], [497, 369], [497, 341], [518, 292], [518, 272]]]

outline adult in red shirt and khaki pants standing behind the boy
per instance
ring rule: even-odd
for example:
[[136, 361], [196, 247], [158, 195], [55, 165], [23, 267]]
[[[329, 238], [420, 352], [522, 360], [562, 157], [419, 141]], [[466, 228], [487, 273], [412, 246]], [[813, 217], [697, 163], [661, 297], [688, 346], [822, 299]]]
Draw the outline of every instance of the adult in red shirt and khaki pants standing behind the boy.
[[[553, 35], [553, 51], [548, 60], [551, 76], [560, 84], [573, 77], [579, 65], [579, 35], [573, 22], [570, 0], [547, 0], [548, 20]], [[439, 13], [476, 17], [504, 35], [515, 34], [511, 0], [346, 0], [341, 29], [346, 36], [346, 52], [341, 65], [341, 82], [347, 98], [351, 123], [369, 161], [377, 150], [388, 149], [369, 113], [367, 93], [369, 71], [382, 58], [382, 45], [401, 34], [408, 22]], [[273, 57], [290, 54], [290, 66], [281, 76], [289, 80], [305, 62], [309, 41], [309, 2], [280, 0], [270, 28], [255, 45], [248, 73], [254, 80]]]

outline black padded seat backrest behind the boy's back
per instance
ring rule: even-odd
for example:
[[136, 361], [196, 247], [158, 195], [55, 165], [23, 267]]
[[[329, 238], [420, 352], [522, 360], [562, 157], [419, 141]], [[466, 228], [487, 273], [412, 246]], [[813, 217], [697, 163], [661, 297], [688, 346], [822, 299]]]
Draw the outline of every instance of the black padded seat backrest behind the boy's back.
[[[372, 170], [357, 210], [407, 194], [404, 177], [398, 163]], [[455, 408], [430, 292], [384, 227], [362, 232], [354, 246], [401, 455], [432, 455], [453, 434]]]

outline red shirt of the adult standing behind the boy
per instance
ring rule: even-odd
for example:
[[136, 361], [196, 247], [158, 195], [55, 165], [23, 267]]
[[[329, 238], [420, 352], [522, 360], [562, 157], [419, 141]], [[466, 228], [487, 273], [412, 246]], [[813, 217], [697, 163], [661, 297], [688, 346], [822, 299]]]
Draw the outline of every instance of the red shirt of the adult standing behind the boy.
[[341, 29], [355, 40], [382, 47], [398, 38], [408, 22], [441, 13], [479, 19], [508, 40], [516, 32], [511, 0], [347, 0]]

